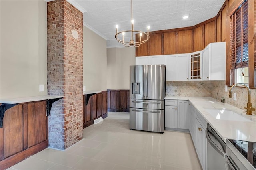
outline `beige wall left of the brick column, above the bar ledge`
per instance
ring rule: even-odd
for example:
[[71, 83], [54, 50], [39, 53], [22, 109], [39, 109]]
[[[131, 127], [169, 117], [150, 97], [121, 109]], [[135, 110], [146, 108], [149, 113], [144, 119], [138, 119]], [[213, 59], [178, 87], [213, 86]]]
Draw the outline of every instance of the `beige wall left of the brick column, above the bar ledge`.
[[0, 13], [0, 99], [47, 95], [46, 1], [1, 0]]

